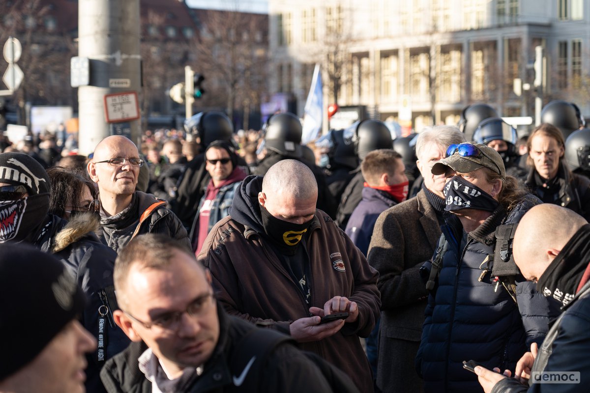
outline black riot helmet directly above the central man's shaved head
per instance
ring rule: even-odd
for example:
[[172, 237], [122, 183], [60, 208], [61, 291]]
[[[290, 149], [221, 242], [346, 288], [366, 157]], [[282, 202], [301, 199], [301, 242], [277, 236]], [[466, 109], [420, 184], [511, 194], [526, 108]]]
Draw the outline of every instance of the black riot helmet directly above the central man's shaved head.
[[271, 115], [263, 128], [264, 145], [267, 150], [284, 156], [301, 158], [301, 135], [303, 127], [296, 115], [285, 112]]

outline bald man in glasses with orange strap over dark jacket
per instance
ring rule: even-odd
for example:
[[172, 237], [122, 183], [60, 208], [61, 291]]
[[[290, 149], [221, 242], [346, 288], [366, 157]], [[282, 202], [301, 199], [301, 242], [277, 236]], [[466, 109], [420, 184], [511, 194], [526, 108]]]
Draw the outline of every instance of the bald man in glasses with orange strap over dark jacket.
[[190, 247], [188, 234], [166, 201], [136, 191], [144, 161], [135, 144], [123, 136], [104, 138], [94, 149], [87, 171], [99, 187], [101, 241], [116, 252], [142, 233], [161, 233]]

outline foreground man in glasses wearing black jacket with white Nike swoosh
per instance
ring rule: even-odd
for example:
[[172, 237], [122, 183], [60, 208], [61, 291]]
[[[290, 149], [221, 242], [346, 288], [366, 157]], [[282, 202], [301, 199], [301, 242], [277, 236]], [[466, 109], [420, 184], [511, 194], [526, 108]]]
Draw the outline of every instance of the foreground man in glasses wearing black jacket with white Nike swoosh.
[[[110, 393], [358, 392], [350, 379], [291, 340], [219, 307], [211, 275], [168, 236], [137, 236], [114, 272], [121, 307], [114, 320], [133, 341], [107, 361], [100, 377]], [[264, 350], [260, 350], [260, 348]]]

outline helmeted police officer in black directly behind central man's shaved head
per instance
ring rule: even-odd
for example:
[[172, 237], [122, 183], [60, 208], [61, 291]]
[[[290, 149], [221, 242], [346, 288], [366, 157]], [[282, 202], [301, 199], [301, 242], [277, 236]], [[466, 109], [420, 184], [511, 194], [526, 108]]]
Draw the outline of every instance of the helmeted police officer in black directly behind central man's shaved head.
[[264, 176], [271, 166], [287, 158], [301, 161], [312, 170], [316, 178], [317, 209], [323, 210], [330, 217], [335, 217], [336, 201], [327, 187], [326, 176], [319, 166], [303, 157], [301, 147], [303, 127], [299, 117], [289, 112], [271, 115], [264, 124], [263, 134], [267, 154], [254, 169], [253, 174]]

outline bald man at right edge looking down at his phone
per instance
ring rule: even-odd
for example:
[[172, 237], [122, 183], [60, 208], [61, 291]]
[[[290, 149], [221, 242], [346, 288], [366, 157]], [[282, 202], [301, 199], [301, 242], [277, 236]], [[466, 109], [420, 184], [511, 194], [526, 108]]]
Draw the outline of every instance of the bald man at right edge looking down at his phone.
[[[475, 372], [486, 392], [586, 392], [590, 375], [590, 224], [565, 207], [541, 204], [520, 221], [514, 235], [514, 261], [537, 290], [562, 305], [545, 341], [531, 346], [514, 372], [504, 375], [478, 366]], [[553, 375], [551, 373], [554, 373]], [[568, 383], [545, 384], [559, 374]]]

